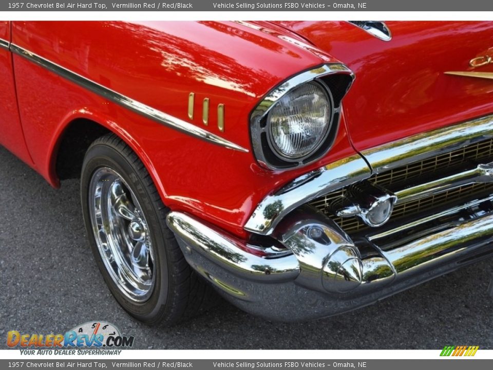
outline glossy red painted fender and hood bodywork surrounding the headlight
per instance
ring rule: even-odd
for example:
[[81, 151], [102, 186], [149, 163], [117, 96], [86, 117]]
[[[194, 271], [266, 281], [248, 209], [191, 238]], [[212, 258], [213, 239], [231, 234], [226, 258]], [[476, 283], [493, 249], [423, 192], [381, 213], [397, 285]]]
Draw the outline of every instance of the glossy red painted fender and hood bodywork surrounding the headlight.
[[[74, 119], [90, 119], [134, 149], [168, 207], [246, 237], [243, 225], [258, 202], [293, 178], [353, 155], [355, 149], [493, 111], [490, 81], [443, 74], [470, 70], [470, 59], [493, 50], [489, 44], [493, 24], [389, 22], [388, 26], [390, 42], [345, 22], [12, 22], [14, 44], [249, 150], [227, 150], [177, 132], [14, 55], [17, 101], [31, 165], [58, 186], [54, 163], [60, 138]], [[0, 37], [9, 37], [8, 28], [0, 25]], [[11, 81], [7, 94], [12, 103], [9, 58], [7, 50], [0, 50], [0, 77]], [[305, 168], [286, 172], [260, 168], [251, 151], [252, 109], [290, 76], [338, 60], [355, 72], [356, 81], [344, 100], [343, 124], [332, 150]], [[191, 92], [192, 120], [187, 117]], [[202, 123], [204, 98], [210, 99], [207, 126]], [[218, 104], [225, 105], [223, 133], [217, 127]], [[29, 162], [18, 117], [1, 109], [5, 107], [0, 107], [3, 117], [10, 112], [12, 123], [7, 129], [0, 127], [6, 133], [2, 143]]]

